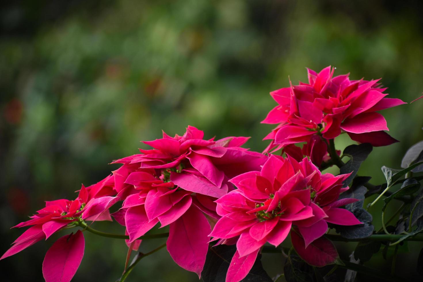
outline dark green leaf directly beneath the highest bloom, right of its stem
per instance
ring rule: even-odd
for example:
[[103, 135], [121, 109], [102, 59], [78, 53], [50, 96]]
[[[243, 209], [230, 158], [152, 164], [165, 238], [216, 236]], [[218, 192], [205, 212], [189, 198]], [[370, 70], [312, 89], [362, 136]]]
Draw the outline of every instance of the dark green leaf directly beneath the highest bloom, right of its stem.
[[367, 156], [373, 150], [372, 145], [369, 143], [363, 143], [360, 145], [349, 145], [343, 151], [343, 154], [349, 156], [351, 159], [343, 165], [339, 172], [341, 174], [346, 174], [352, 172], [352, 174], [344, 181], [343, 186], [346, 187], [351, 183], [354, 179], [355, 175], [357, 175], [358, 170], [360, 169], [360, 165]]

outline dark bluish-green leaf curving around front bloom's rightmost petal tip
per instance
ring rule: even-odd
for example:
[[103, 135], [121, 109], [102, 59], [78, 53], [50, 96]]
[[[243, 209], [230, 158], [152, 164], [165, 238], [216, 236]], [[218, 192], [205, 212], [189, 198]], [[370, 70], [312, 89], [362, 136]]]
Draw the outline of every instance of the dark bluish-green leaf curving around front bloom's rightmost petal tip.
[[358, 220], [363, 222], [363, 224], [352, 226], [336, 225], [336, 232], [341, 233], [341, 236], [346, 239], [367, 238], [372, 235], [374, 226], [371, 224], [373, 220], [371, 214], [363, 208], [356, 208], [353, 214]]

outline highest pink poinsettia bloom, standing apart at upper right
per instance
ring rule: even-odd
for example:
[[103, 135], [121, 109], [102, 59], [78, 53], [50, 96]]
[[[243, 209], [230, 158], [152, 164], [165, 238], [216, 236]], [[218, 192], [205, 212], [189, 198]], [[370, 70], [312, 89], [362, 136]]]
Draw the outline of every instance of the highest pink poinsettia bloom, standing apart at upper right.
[[[278, 150], [298, 142], [310, 142], [319, 134], [333, 139], [346, 132], [352, 140], [373, 146], [390, 145], [398, 140], [385, 131], [385, 118], [378, 113], [406, 104], [386, 98], [379, 79], [350, 80], [349, 74], [333, 77], [334, 68], [319, 73], [308, 69], [308, 83], [300, 82], [270, 93], [278, 103], [262, 123], [278, 124], [264, 140], [271, 140], [266, 150]], [[308, 155], [309, 156], [309, 155]]]

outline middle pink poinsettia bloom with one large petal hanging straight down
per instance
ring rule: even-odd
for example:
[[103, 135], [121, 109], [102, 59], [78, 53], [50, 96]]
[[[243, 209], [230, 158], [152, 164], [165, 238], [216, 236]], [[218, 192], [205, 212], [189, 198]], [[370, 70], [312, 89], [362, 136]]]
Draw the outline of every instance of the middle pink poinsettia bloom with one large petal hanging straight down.
[[267, 159], [242, 148], [247, 137], [204, 140], [204, 133], [188, 126], [183, 136], [144, 143], [151, 150], [119, 159], [113, 172], [115, 190], [126, 196], [113, 215], [126, 227], [128, 243], [158, 222], [170, 226], [168, 251], [179, 266], [200, 277], [208, 250], [211, 227], [207, 217], [218, 219], [217, 198], [233, 190], [228, 180], [258, 170]]

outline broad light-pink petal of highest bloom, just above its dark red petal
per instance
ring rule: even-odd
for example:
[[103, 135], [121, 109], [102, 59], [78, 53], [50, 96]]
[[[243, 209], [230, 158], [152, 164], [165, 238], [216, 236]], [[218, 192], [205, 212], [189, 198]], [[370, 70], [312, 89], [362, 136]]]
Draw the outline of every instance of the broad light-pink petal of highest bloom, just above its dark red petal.
[[352, 133], [389, 130], [385, 118], [377, 112], [364, 112], [354, 118], [347, 118], [341, 124], [341, 129]]

